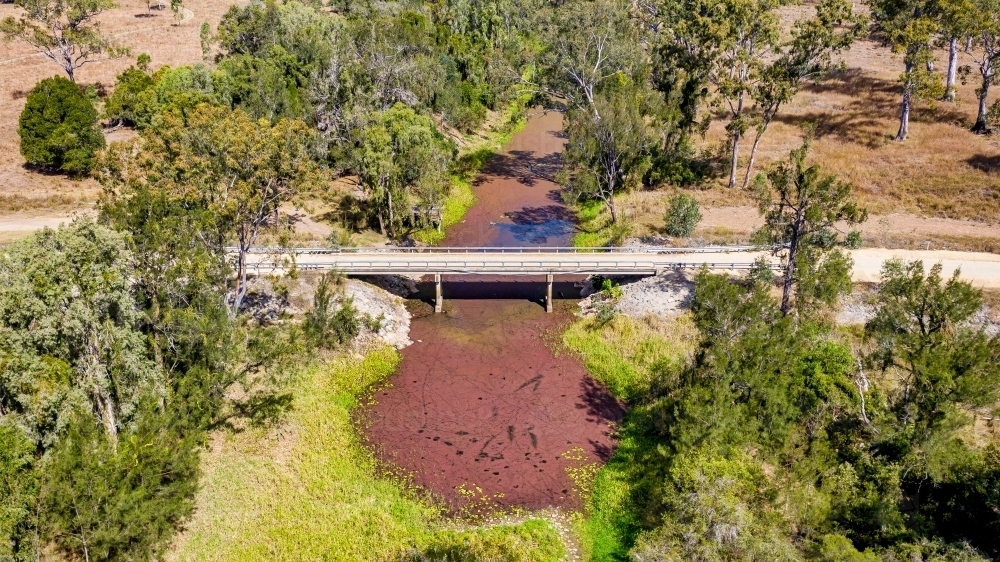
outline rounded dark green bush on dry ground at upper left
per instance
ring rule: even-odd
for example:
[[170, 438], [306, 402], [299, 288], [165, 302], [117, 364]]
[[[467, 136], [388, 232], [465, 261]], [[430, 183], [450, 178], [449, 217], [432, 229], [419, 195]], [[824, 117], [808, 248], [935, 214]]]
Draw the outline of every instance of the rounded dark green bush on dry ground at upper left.
[[46, 78], [31, 90], [17, 134], [29, 164], [72, 175], [89, 172], [94, 153], [104, 147], [94, 105], [61, 76]]

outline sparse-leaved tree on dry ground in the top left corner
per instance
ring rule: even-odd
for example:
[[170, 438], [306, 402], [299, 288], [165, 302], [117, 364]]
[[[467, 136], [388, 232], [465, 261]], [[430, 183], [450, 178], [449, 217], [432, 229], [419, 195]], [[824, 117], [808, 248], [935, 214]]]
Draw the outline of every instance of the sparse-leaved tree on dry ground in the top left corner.
[[62, 67], [76, 82], [76, 70], [100, 60], [101, 55], [117, 58], [128, 49], [117, 45], [101, 32], [99, 16], [116, 8], [114, 0], [17, 0], [24, 9], [20, 19], [7, 16], [0, 22], [5, 41], [20, 40]]

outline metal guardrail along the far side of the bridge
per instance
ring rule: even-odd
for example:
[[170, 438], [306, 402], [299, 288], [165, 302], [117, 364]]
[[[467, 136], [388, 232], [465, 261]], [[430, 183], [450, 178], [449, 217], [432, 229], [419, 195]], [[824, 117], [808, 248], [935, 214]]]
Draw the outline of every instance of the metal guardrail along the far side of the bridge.
[[[544, 247], [544, 246], [376, 246], [358, 248], [282, 248], [279, 246], [257, 246], [250, 248], [249, 254], [705, 254], [730, 252], [760, 252], [780, 249], [781, 246], [698, 246], [678, 248], [675, 246], [600, 246], [600, 247]], [[228, 246], [227, 252], [238, 248]]]

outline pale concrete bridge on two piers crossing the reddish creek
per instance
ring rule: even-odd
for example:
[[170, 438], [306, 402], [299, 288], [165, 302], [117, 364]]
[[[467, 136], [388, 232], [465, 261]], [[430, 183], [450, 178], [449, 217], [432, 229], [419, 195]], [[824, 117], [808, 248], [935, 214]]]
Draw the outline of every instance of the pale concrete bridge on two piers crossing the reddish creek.
[[[444, 302], [443, 275], [545, 275], [545, 309], [552, 312], [555, 275], [658, 275], [671, 269], [750, 269], [758, 246], [699, 248], [253, 248], [247, 267], [257, 272], [338, 271], [347, 275], [433, 275], [435, 312]], [[781, 266], [772, 263], [771, 267]]]

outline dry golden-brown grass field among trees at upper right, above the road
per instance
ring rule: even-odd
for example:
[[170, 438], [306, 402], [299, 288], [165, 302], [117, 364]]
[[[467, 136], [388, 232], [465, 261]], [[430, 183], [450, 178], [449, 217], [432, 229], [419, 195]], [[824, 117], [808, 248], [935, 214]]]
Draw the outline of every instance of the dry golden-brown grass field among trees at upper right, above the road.
[[[790, 8], [786, 19], [809, 9]], [[918, 102], [910, 138], [898, 143], [892, 138], [899, 126], [901, 58], [866, 40], [839, 59], [842, 71], [803, 88], [772, 124], [756, 169], [786, 158], [801, 143], [802, 125], [815, 123], [813, 161], [852, 182], [873, 212], [1000, 223], [1000, 137], [968, 130], [975, 120], [975, 80], [958, 85], [958, 103]], [[960, 53], [959, 64], [972, 64], [970, 56]], [[938, 51], [937, 68], [946, 66], [947, 52]], [[701, 148], [723, 142], [724, 127], [712, 123]], [[742, 199], [734, 194], [728, 204]]]

